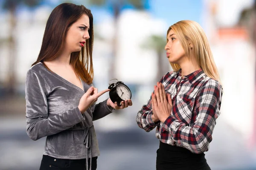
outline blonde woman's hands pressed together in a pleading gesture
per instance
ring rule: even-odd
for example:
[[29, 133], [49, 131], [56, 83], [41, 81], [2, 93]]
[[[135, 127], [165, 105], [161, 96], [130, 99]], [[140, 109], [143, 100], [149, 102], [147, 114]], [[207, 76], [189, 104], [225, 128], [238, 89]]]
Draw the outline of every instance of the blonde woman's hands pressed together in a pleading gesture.
[[165, 122], [172, 111], [171, 94], [166, 94], [162, 83], [154, 85], [154, 93], [151, 94], [152, 119], [154, 122]]

